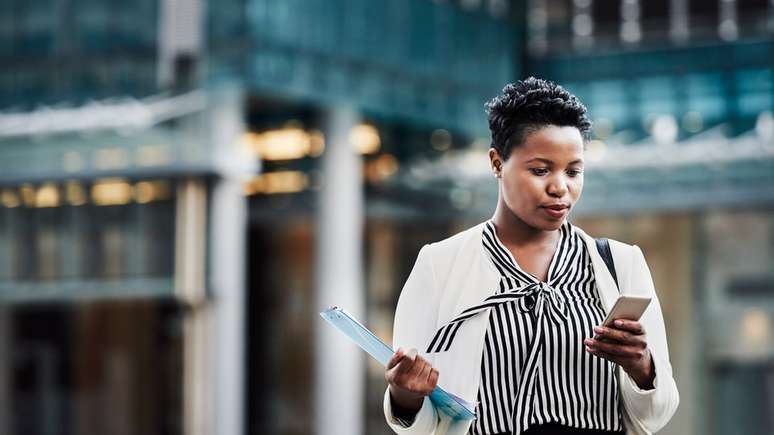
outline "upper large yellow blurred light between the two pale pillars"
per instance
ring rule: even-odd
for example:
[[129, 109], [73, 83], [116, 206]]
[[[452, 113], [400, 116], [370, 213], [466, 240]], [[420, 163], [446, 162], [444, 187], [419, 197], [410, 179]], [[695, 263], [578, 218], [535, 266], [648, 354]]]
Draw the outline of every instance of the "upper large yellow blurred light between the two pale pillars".
[[309, 134], [300, 128], [245, 133], [242, 142], [263, 160], [300, 159], [311, 149]]

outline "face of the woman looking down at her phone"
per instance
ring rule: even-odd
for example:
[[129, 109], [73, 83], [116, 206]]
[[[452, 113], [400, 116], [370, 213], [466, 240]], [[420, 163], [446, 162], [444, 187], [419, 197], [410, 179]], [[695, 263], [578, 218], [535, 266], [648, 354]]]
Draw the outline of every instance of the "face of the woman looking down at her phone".
[[558, 229], [580, 198], [583, 138], [575, 127], [543, 127], [515, 145], [508, 160], [494, 149], [489, 158], [499, 174], [501, 201], [533, 228]]

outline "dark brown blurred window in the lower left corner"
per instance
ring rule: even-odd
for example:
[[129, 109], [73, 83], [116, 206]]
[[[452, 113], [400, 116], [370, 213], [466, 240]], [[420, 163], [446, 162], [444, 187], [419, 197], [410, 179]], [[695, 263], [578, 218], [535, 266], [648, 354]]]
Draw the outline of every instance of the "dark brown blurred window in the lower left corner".
[[13, 308], [9, 435], [182, 434], [181, 318], [152, 301]]

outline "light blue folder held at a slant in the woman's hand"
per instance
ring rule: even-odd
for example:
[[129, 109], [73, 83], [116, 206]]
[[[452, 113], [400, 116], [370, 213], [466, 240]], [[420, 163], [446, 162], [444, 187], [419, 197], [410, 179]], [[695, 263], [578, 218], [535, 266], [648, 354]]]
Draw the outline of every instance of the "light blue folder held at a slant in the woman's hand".
[[[387, 365], [395, 353], [392, 347], [380, 340], [343, 308], [333, 306], [321, 312], [320, 316], [383, 366]], [[436, 409], [455, 420], [474, 420], [476, 418], [474, 404], [444, 391], [441, 387], [435, 387], [430, 394], [430, 401]]]

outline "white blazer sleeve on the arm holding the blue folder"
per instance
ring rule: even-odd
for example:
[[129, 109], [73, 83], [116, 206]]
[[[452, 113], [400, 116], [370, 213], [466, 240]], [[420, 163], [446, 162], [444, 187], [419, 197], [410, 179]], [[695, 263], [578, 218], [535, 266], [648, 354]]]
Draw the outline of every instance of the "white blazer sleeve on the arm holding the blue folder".
[[[425, 245], [419, 251], [414, 268], [411, 270], [398, 299], [393, 327], [393, 348], [404, 350], [415, 348], [433, 363], [432, 356], [424, 353], [425, 347], [435, 333], [438, 319], [438, 288], [430, 259], [432, 245]], [[430, 399], [425, 397], [422, 408], [412, 424], [403, 426], [392, 414], [390, 391], [384, 394], [384, 416], [387, 424], [396, 434], [425, 435], [435, 431], [438, 425], [438, 411]]]

